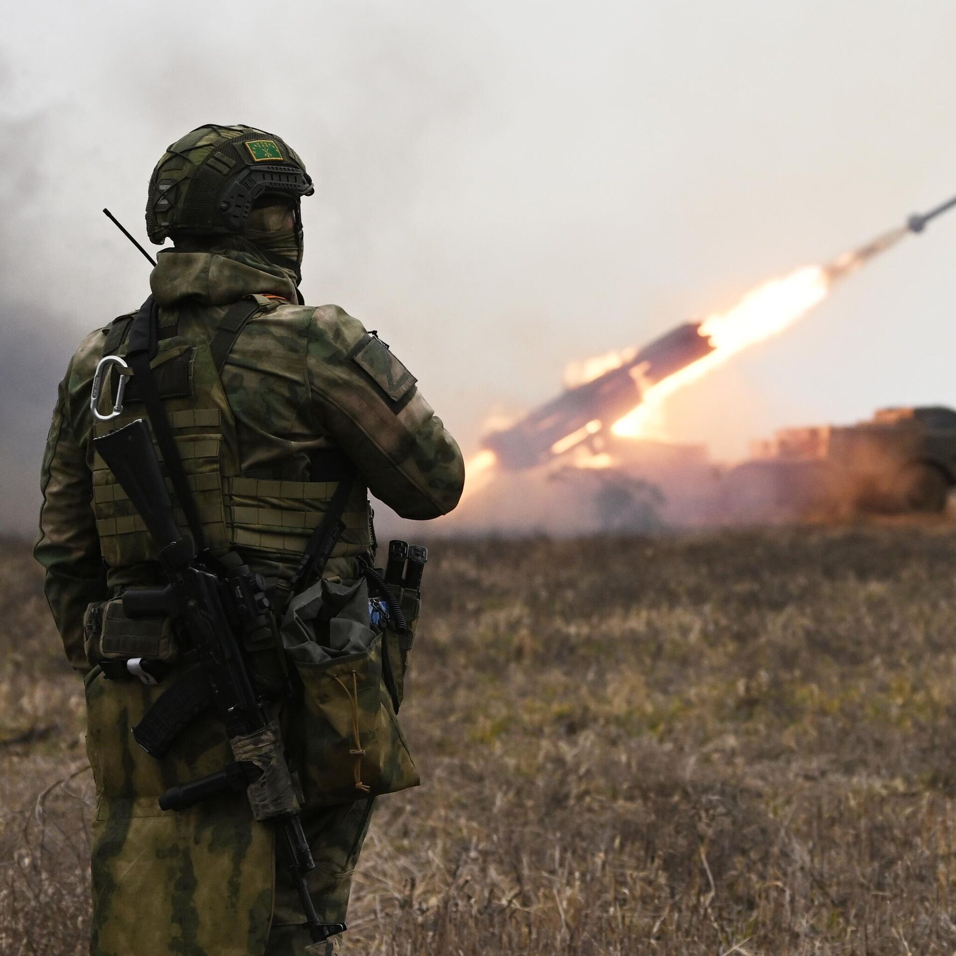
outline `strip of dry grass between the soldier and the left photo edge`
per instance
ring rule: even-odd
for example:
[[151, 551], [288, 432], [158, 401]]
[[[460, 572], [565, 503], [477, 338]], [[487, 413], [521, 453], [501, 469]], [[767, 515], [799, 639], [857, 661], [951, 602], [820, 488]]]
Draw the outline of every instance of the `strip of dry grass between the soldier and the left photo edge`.
[[0, 953], [73, 956], [89, 922], [82, 685], [30, 549], [0, 539]]

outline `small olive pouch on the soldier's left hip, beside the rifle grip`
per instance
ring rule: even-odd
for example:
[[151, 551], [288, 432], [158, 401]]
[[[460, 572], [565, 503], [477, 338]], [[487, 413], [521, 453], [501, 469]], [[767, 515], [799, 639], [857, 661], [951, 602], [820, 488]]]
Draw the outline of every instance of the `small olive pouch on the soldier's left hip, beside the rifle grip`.
[[179, 660], [179, 643], [165, 615], [129, 618], [122, 597], [90, 604], [83, 616], [83, 646], [91, 666], [104, 661], [142, 658], [159, 663]]

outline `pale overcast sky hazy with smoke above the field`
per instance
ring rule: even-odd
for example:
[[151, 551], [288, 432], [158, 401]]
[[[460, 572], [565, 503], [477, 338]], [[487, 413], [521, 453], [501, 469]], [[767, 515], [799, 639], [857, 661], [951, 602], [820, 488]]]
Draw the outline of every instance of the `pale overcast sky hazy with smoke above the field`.
[[[33, 527], [55, 382], [148, 293], [149, 173], [200, 123], [303, 157], [303, 292], [380, 330], [473, 450], [573, 359], [726, 309], [956, 193], [956, 4], [47, 2], [0, 38], [0, 478]], [[671, 407], [717, 457], [956, 405], [956, 213]], [[23, 502], [9, 507], [12, 497]], [[32, 497], [33, 496], [33, 497]]]

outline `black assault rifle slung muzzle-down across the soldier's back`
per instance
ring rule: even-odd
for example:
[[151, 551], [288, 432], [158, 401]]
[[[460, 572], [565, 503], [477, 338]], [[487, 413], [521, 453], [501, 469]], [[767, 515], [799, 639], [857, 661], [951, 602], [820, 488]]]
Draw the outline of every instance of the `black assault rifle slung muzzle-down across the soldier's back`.
[[[187, 641], [183, 673], [147, 712], [149, 720], [144, 717], [134, 728], [134, 736], [145, 750], [162, 757], [179, 731], [211, 706], [225, 725], [235, 758], [221, 771], [163, 793], [160, 807], [185, 810], [218, 794], [246, 790], [255, 819], [275, 825], [312, 941], [322, 943], [346, 927], [318, 921], [305, 879], [315, 861], [302, 830], [293, 778], [279, 729], [246, 662], [250, 642], [261, 647], [268, 639], [276, 654], [281, 653], [274, 644], [265, 582], [241, 563], [227, 567], [207, 552], [197, 554], [192, 539], [180, 533], [142, 419], [96, 439], [94, 445], [139, 512], [169, 580], [164, 588], [127, 591], [123, 609], [130, 617], [168, 614], [182, 623]], [[141, 677], [143, 670], [146, 678], [153, 678], [147, 683], [155, 683], [148, 662], [132, 664], [130, 670]]]

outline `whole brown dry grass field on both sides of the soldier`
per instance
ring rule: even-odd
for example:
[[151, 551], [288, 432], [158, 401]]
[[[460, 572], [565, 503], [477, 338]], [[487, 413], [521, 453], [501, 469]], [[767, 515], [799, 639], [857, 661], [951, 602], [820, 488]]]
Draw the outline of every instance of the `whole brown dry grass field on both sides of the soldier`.
[[[442, 543], [346, 952], [951, 954], [956, 534]], [[0, 952], [86, 929], [78, 681], [0, 559]], [[951, 919], [952, 918], [952, 919]]]

